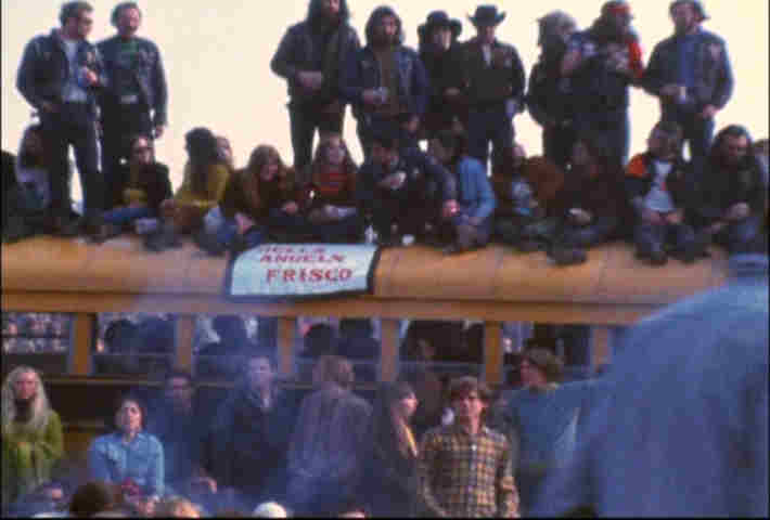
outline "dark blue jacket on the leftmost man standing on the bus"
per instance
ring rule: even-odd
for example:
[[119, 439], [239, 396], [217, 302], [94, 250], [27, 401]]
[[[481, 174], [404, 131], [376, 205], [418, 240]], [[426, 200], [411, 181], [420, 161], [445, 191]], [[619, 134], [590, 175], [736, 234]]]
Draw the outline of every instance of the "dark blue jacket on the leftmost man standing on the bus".
[[[97, 94], [108, 84], [104, 64], [98, 49], [86, 40], [78, 43], [76, 61], [78, 67], [87, 66], [99, 76], [97, 86], [86, 89], [91, 113], [95, 117]], [[42, 112], [40, 103], [43, 101], [61, 104], [68, 79], [69, 62], [59, 29], [33, 38], [24, 49], [16, 74], [16, 88], [27, 103], [39, 112]]]

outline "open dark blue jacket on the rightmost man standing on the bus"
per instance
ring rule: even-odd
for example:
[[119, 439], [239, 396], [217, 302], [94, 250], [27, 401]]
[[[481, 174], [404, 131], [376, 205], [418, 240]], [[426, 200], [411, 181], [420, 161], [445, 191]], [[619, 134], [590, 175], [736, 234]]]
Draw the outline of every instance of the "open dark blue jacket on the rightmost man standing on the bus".
[[[695, 55], [691, 56], [695, 67], [695, 109], [706, 105], [722, 108], [728, 104], [733, 91], [733, 74], [724, 41], [717, 35], [701, 30], [695, 44]], [[655, 46], [650, 63], [642, 77], [642, 87], [652, 95], [659, 95], [660, 89], [677, 83], [677, 37], [672, 36]]]

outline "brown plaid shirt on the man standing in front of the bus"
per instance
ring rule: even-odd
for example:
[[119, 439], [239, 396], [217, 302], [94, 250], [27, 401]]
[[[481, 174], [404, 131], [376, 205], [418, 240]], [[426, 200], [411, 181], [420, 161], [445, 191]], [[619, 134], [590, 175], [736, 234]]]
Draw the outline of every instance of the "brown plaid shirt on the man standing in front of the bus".
[[425, 433], [420, 450], [420, 494], [440, 517], [517, 517], [511, 447], [482, 427], [472, 437], [458, 425]]

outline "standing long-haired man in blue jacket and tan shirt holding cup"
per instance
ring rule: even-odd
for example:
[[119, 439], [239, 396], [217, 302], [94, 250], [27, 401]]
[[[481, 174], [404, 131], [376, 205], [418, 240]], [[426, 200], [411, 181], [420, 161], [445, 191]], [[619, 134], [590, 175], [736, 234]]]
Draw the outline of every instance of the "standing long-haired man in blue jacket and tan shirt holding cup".
[[367, 47], [348, 55], [339, 90], [352, 104], [358, 139], [368, 159], [372, 128], [382, 122], [416, 127], [425, 114], [431, 86], [418, 53], [401, 44], [401, 18], [393, 8], [375, 9], [365, 32]]

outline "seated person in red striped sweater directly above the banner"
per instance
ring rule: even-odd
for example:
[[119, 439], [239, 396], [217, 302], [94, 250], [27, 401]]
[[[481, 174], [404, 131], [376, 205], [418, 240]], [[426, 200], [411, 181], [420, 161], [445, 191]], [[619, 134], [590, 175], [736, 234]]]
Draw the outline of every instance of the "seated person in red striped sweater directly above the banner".
[[326, 134], [310, 165], [309, 208], [313, 237], [324, 243], [357, 243], [363, 223], [356, 208], [357, 166], [338, 133]]

